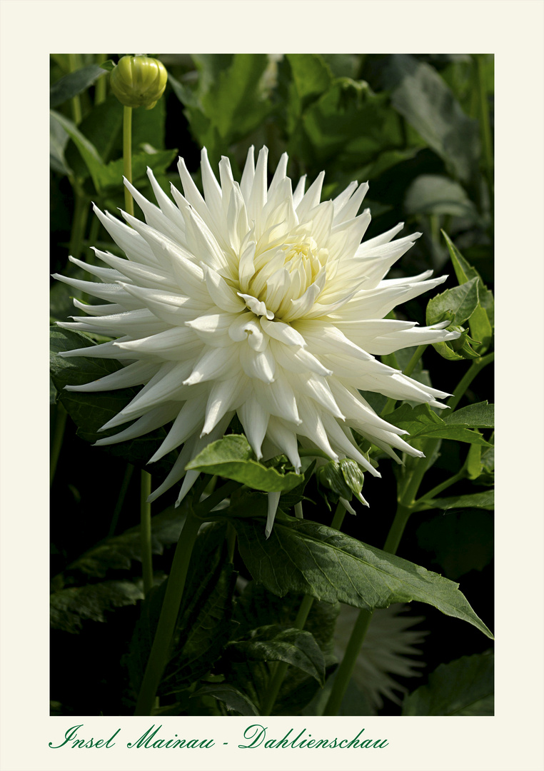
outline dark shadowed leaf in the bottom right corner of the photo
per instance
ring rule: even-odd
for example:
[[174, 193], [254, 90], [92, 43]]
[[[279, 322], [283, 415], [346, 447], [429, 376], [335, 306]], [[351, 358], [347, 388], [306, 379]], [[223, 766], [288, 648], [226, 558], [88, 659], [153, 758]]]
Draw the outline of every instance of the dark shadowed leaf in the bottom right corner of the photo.
[[402, 715], [493, 715], [494, 663], [487, 651], [441, 664], [406, 696]]

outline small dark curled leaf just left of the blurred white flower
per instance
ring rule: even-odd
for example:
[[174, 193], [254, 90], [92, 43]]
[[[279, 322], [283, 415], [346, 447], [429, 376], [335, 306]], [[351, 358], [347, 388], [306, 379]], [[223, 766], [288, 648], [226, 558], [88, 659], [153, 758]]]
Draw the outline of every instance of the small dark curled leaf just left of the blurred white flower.
[[325, 660], [309, 631], [269, 625], [255, 629], [250, 640], [230, 643], [229, 648], [244, 660], [286, 662], [324, 685]]

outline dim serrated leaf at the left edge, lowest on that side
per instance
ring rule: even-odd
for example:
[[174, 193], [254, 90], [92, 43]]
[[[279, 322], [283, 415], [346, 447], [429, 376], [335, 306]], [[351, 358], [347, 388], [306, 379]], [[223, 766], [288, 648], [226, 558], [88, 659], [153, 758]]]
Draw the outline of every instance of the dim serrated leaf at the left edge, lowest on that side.
[[102, 581], [61, 589], [51, 595], [51, 626], [76, 634], [83, 621], [106, 621], [106, 611], [134, 605], [142, 599], [142, 589], [132, 581]]

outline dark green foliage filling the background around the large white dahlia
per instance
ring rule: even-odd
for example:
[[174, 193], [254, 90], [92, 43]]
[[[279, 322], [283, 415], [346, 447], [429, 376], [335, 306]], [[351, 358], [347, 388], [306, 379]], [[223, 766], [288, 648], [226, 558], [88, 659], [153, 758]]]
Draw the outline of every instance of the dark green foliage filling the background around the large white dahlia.
[[[99, 57], [78, 60], [79, 69], [69, 72], [67, 55], [52, 56], [51, 271], [89, 278], [67, 257], [87, 258], [92, 246], [119, 254], [95, 221], [91, 202], [112, 214], [124, 207], [123, 107], [107, 94], [109, 76], [99, 66]], [[365, 238], [400, 220], [406, 221], [402, 235], [422, 233], [389, 277], [429, 269], [449, 274], [440, 293], [400, 306], [391, 318], [420, 324], [447, 320], [462, 332], [458, 340], [435, 345], [435, 351], [429, 347], [411, 374], [453, 392], [471, 362], [489, 353], [493, 342], [493, 169], [482, 152], [485, 126], [476, 90], [481, 76], [492, 125], [492, 56], [203, 54], [171, 55], [169, 60], [164, 98], [152, 110], [133, 110], [136, 187], [153, 200], [146, 176], [150, 167], [166, 193], [170, 183], [181, 189], [175, 170], [178, 154], [200, 185], [197, 166], [204, 145], [214, 167], [221, 155], [230, 157], [238, 180], [250, 145], [257, 151], [263, 144], [269, 147], [270, 170], [287, 150], [287, 173], [294, 184], [303, 173], [311, 183], [325, 170], [324, 199], [351, 180], [368, 179], [363, 207], [371, 208], [372, 222]], [[102, 86], [103, 100], [96, 98]], [[82, 107], [77, 125], [73, 97]], [[72, 296], [88, 300], [81, 291], [55, 282], [53, 321], [65, 321], [72, 314]], [[165, 429], [119, 445], [91, 447], [108, 436], [100, 427], [138, 389], [66, 391], [65, 385], [91, 382], [120, 365], [112, 359], [62, 359], [62, 351], [96, 345], [87, 335], [55, 327], [51, 339], [52, 425], [60, 406], [69, 416], [52, 486], [52, 711], [131, 715], [174, 547], [187, 507], [197, 502], [187, 500], [174, 509], [169, 506], [174, 497], [167, 493], [163, 511], [159, 504], [156, 513], [153, 504], [155, 585], [143, 599], [139, 489], [134, 489], [138, 475], [130, 483], [119, 527], [110, 524], [109, 516], [123, 479], [119, 462], [146, 466]], [[405, 369], [414, 352], [408, 348], [382, 360]], [[279, 662], [289, 668], [273, 714], [302, 714], [337, 668], [333, 635], [338, 600], [358, 608], [381, 608], [396, 601], [425, 603], [425, 624], [431, 631], [426, 674], [435, 672], [427, 685], [405, 699], [403, 714], [492, 714], [492, 656], [465, 655], [485, 650], [489, 641], [484, 635], [490, 636], [465, 595], [491, 625], [491, 395], [491, 373], [486, 370], [470, 384], [458, 409], [388, 405], [385, 419], [408, 431], [405, 439], [428, 458], [416, 496], [417, 512], [402, 544], [401, 554], [409, 561], [367, 544], [384, 544], [395, 496], [405, 490], [418, 459], [405, 457], [404, 466], [395, 466], [400, 480], [395, 489], [389, 461], [364, 443], [362, 449], [370, 450], [371, 462], [379, 460], [383, 476], [374, 480], [365, 475], [367, 510], [356, 500], [361, 500], [362, 485], [358, 466], [343, 460], [321, 466], [317, 486], [315, 472], [321, 461], [304, 457], [300, 474], [283, 456], [258, 462], [235, 422], [230, 436], [200, 453], [192, 468], [235, 480], [240, 487], [231, 493], [228, 505], [209, 514], [216, 521], [203, 525], [196, 539], [156, 716], [257, 717]], [[379, 394], [364, 396], [378, 412], [388, 403]], [[153, 474], [164, 478], [175, 458], [176, 453], [170, 453], [153, 464]], [[114, 468], [121, 470], [113, 473]], [[452, 476], [455, 486], [448, 487]], [[216, 490], [220, 485], [219, 480]], [[442, 492], [432, 493], [437, 486]], [[264, 536], [267, 491], [281, 493], [269, 539]], [[173, 489], [173, 496], [176, 492]], [[325, 493], [326, 502], [319, 492]], [[347, 517], [344, 527], [350, 535], [328, 527], [327, 505], [340, 497], [352, 500], [360, 513]], [[288, 516], [297, 503], [304, 503], [304, 520]], [[429, 566], [444, 576], [425, 569]], [[463, 594], [453, 583], [460, 577]], [[305, 592], [314, 602], [301, 631], [294, 625]], [[65, 668], [66, 658], [75, 656], [93, 662], [89, 678], [78, 684], [79, 692]], [[441, 665], [444, 661], [451, 663]], [[414, 685], [409, 682], [408, 689]], [[344, 707], [351, 703], [345, 709], [366, 714], [364, 692], [352, 690], [351, 696], [351, 702], [344, 700]], [[381, 711], [399, 713], [392, 702]]]

